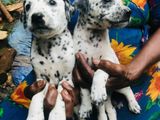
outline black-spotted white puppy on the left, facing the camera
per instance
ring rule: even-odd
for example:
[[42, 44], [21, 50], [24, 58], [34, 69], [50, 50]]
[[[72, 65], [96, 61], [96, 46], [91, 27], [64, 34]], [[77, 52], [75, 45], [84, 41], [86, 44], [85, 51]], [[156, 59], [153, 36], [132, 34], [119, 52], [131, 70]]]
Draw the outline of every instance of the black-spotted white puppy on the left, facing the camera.
[[[65, 105], [60, 94], [61, 81], [72, 86], [75, 63], [73, 39], [67, 29], [72, 7], [68, 0], [25, 0], [24, 26], [33, 33], [31, 61], [37, 80], [45, 79], [58, 87], [56, 105], [48, 120], [66, 120]], [[34, 95], [27, 120], [44, 120], [43, 100], [48, 89]]]

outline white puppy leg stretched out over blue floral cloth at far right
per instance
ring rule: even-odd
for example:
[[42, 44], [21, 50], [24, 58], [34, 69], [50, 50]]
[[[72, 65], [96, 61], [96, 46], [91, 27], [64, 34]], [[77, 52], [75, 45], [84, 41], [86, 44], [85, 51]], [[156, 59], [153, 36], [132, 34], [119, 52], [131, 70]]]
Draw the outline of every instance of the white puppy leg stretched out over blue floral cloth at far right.
[[139, 106], [138, 102], [135, 99], [134, 93], [132, 92], [130, 87], [125, 87], [122, 89], [117, 90], [117, 92], [125, 95], [128, 101], [129, 110], [138, 114], [141, 111], [141, 107]]

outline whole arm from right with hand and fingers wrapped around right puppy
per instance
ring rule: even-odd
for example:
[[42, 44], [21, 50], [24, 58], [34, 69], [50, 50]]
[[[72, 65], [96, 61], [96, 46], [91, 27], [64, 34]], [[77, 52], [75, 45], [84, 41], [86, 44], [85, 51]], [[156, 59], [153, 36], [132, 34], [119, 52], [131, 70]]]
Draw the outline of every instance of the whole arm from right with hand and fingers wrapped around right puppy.
[[[96, 68], [103, 69], [109, 73], [112, 78], [107, 81], [107, 88], [119, 89], [126, 87], [137, 79], [146, 68], [160, 60], [160, 28], [148, 40], [140, 53], [134, 57], [128, 65], [115, 64], [107, 60], [93, 60]], [[77, 63], [73, 72], [75, 83], [81, 87], [88, 87], [92, 83], [93, 69], [87, 64], [83, 54], [77, 54]], [[89, 81], [87, 81], [87, 79]], [[90, 79], [89, 79], [90, 78]], [[118, 79], [117, 79], [118, 78]], [[117, 80], [119, 82], [117, 82]]]

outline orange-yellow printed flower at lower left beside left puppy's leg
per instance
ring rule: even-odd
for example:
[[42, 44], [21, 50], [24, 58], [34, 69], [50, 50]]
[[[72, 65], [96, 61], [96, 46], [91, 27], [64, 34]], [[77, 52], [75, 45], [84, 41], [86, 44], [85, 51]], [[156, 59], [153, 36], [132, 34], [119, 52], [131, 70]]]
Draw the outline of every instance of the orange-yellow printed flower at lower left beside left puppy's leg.
[[19, 104], [25, 106], [26, 108], [29, 108], [30, 100], [28, 98], [26, 98], [25, 95], [24, 95], [24, 89], [26, 87], [27, 87], [26, 81], [21, 83], [15, 89], [15, 91], [12, 93], [11, 99], [16, 103], [19, 103]]

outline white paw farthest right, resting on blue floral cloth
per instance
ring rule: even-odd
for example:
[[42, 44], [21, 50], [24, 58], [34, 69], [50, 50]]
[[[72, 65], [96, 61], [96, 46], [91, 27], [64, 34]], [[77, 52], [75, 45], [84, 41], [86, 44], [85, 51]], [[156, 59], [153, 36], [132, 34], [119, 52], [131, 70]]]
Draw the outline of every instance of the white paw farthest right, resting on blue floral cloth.
[[141, 107], [139, 106], [137, 101], [130, 100], [129, 101], [129, 110], [135, 114], [139, 114], [141, 112]]

